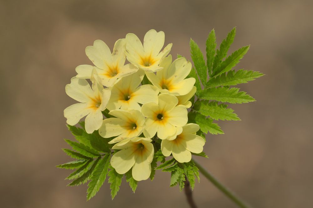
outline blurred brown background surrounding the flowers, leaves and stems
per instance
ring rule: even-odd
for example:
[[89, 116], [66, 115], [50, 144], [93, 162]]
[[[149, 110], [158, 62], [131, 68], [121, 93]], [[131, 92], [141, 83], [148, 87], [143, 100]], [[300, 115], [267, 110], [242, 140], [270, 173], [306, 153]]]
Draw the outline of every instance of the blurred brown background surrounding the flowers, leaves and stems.
[[[86, 202], [85, 185], [66, 187], [70, 173], [63, 110], [75, 101], [64, 87], [75, 67], [91, 64], [85, 47], [110, 48], [129, 32], [143, 39], [164, 31], [171, 54], [188, 58], [192, 37], [205, 51], [215, 28], [218, 44], [232, 27], [231, 51], [251, 44], [237, 69], [266, 76], [239, 85], [257, 102], [231, 105], [242, 121], [218, 122], [224, 135], [207, 136], [209, 159], [197, 158], [255, 208], [312, 207], [312, 1], [0, 1], [1, 207], [188, 207], [168, 173], [122, 183], [115, 200], [107, 181]], [[199, 207], [236, 207], [201, 177], [193, 191]]]

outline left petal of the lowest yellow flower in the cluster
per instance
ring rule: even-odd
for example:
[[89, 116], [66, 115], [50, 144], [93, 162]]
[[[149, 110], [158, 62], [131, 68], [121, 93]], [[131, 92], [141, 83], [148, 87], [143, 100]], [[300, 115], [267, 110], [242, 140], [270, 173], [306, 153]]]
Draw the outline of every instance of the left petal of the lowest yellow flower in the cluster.
[[135, 164], [135, 155], [131, 149], [116, 152], [111, 158], [111, 166], [119, 174], [124, 174]]

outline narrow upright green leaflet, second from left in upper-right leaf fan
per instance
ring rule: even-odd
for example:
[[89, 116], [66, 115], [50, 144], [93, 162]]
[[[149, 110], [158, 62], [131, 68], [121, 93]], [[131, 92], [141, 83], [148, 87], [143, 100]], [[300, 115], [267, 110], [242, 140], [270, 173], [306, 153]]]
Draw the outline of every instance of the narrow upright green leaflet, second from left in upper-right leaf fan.
[[209, 74], [212, 73], [212, 67], [214, 62], [214, 57], [216, 53], [216, 37], [214, 29], [208, 35], [208, 39], [206, 41], [206, 52], [207, 52], [207, 66]]

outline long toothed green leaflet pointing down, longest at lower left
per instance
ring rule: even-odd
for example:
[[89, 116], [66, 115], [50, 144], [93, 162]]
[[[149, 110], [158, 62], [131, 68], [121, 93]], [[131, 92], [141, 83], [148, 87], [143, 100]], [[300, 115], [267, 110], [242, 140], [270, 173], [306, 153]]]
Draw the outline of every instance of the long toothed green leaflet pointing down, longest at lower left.
[[105, 156], [98, 162], [95, 170], [92, 172], [90, 182], [87, 189], [87, 201], [96, 195], [100, 187], [103, 185], [110, 164], [110, 154]]

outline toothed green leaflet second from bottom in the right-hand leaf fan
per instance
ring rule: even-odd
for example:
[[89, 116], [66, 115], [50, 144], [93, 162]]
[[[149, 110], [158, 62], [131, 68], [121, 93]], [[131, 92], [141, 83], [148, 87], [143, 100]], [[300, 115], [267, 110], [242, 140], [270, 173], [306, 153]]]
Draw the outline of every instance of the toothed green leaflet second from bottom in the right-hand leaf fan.
[[198, 100], [194, 104], [194, 109], [200, 114], [210, 116], [214, 120], [234, 120], [239, 121], [237, 114], [233, 113], [233, 109], [227, 108], [225, 104], [219, 104], [218, 102], [208, 100]]

